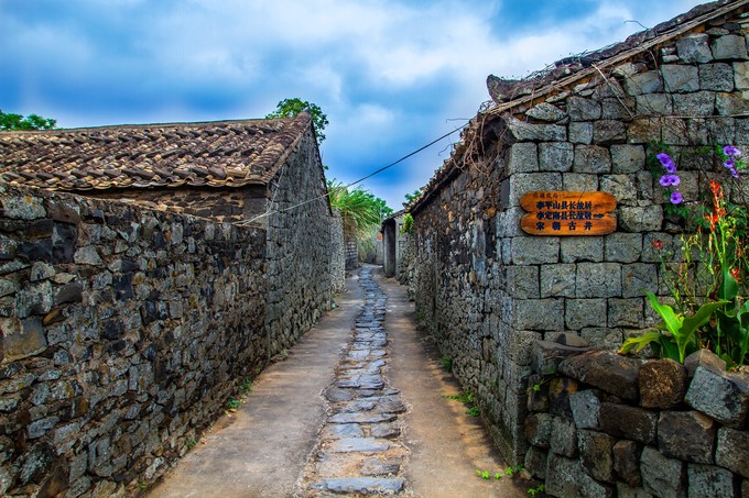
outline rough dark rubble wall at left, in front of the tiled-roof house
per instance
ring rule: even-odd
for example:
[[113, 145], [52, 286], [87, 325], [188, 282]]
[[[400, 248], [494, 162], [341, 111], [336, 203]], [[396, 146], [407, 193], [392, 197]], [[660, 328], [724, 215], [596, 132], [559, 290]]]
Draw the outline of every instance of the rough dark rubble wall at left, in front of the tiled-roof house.
[[137, 490], [264, 362], [265, 232], [0, 192], [0, 495]]

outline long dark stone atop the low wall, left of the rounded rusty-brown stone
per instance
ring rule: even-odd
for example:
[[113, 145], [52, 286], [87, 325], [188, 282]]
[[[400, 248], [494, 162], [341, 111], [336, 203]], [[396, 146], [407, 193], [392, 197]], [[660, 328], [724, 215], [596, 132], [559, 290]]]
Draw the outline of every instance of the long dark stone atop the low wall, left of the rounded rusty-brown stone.
[[641, 364], [610, 351], [590, 351], [563, 361], [560, 373], [619, 398], [637, 400]]

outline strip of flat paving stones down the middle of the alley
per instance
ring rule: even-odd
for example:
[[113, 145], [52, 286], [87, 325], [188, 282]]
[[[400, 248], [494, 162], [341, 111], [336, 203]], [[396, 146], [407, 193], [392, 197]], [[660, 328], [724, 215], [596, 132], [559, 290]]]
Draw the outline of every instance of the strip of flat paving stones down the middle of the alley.
[[405, 485], [400, 475], [408, 450], [398, 421], [405, 405], [384, 375], [388, 297], [372, 280], [371, 267], [361, 270], [360, 285], [365, 306], [325, 390], [327, 419], [304, 472], [305, 496], [391, 494]]

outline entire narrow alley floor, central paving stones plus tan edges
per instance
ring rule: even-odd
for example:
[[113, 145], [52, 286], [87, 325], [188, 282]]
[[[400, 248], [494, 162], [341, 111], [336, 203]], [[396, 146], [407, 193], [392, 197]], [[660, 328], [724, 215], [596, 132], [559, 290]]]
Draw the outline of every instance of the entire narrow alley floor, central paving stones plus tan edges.
[[493, 477], [507, 465], [448, 398], [459, 387], [405, 289], [365, 266], [337, 305], [150, 497], [525, 495], [519, 477]]

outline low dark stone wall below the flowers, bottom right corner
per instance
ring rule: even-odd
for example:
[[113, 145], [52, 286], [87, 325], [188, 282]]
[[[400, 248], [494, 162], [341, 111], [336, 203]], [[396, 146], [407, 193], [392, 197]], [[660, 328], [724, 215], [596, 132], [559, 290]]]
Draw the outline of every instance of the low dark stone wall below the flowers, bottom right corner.
[[534, 347], [525, 420], [549, 495], [749, 496], [749, 375], [706, 350], [682, 365], [558, 339]]

